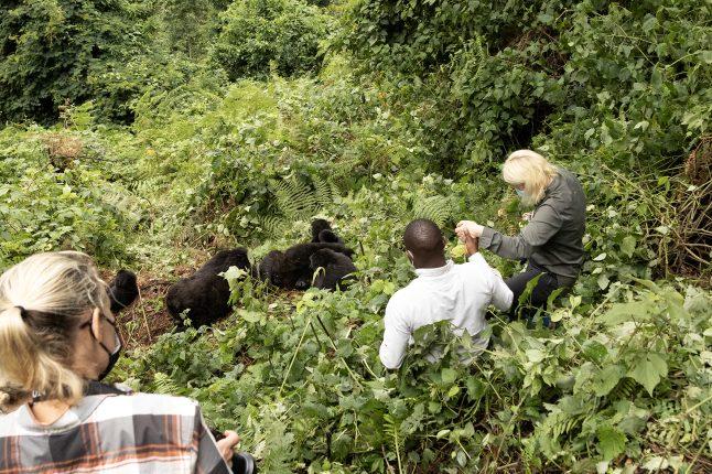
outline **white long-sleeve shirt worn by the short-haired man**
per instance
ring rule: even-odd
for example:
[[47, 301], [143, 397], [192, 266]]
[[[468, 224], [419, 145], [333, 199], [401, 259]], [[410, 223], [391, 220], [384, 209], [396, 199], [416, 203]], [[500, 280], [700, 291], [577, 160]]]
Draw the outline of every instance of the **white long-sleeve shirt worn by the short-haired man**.
[[489, 304], [506, 311], [513, 293], [499, 272], [476, 252], [470, 261], [444, 267], [417, 269], [418, 278], [392, 295], [386, 306], [386, 331], [380, 345], [380, 360], [387, 368], [403, 362], [412, 333], [428, 324], [450, 321], [455, 334], [467, 331], [479, 352], [487, 347], [489, 336], [476, 336], [487, 327], [485, 312]]

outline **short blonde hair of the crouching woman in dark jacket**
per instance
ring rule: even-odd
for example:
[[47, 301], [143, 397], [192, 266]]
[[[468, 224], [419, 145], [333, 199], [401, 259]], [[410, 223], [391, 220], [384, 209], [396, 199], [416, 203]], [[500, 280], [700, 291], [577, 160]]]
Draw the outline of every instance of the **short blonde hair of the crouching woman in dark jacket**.
[[551, 180], [559, 174], [546, 158], [531, 150], [511, 153], [501, 169], [501, 175], [509, 184], [525, 185], [525, 204], [538, 204]]

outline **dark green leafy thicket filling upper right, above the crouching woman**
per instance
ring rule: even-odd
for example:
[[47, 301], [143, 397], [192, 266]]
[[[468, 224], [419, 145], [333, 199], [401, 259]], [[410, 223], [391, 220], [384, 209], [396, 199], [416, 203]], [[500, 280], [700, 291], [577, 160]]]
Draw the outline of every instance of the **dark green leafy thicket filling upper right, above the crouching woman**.
[[695, 1], [375, 0], [348, 21], [341, 47], [428, 98], [417, 118], [446, 169], [490, 163], [542, 131], [569, 157], [604, 144], [635, 168], [679, 164], [709, 132], [710, 11]]

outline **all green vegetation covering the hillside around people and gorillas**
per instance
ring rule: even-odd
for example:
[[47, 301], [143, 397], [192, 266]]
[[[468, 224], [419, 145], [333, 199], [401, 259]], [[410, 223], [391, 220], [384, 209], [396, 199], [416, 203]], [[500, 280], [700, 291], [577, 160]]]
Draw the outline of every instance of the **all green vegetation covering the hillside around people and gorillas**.
[[[3, 3], [0, 268], [75, 248], [172, 279], [323, 216], [358, 250], [348, 290], [228, 274], [234, 315], [142, 347], [131, 321], [115, 378], [198, 399], [269, 473], [710, 470], [709, 6], [313, 3]], [[590, 258], [547, 310], [557, 328], [493, 313], [472, 366], [430, 328], [387, 373], [406, 224], [516, 233], [498, 169], [527, 147], [587, 196]]]

